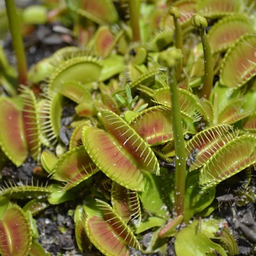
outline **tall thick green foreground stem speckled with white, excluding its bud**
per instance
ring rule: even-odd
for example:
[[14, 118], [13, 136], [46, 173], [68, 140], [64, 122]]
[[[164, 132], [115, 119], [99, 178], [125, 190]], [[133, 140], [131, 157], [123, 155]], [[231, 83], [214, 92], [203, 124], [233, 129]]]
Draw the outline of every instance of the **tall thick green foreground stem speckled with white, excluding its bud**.
[[177, 216], [183, 215], [185, 200], [186, 156], [183, 126], [180, 112], [179, 93], [175, 72], [169, 70], [168, 81], [170, 98], [172, 100], [172, 124], [175, 147], [175, 212]]

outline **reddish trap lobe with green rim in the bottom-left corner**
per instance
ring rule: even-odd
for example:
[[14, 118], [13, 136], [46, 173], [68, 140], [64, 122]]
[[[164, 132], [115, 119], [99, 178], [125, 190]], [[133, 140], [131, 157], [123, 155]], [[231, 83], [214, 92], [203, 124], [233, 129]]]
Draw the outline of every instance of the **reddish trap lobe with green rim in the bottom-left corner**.
[[28, 255], [32, 232], [25, 212], [10, 204], [0, 220], [0, 252], [2, 256]]

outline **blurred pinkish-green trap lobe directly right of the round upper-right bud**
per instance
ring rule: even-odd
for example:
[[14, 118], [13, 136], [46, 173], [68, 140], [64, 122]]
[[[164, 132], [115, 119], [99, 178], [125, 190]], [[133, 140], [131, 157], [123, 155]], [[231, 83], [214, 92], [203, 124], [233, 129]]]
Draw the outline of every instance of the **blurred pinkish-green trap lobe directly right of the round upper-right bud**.
[[253, 31], [253, 23], [248, 16], [234, 15], [224, 17], [209, 30], [210, 48], [213, 52], [224, 51], [241, 35], [251, 31]]

